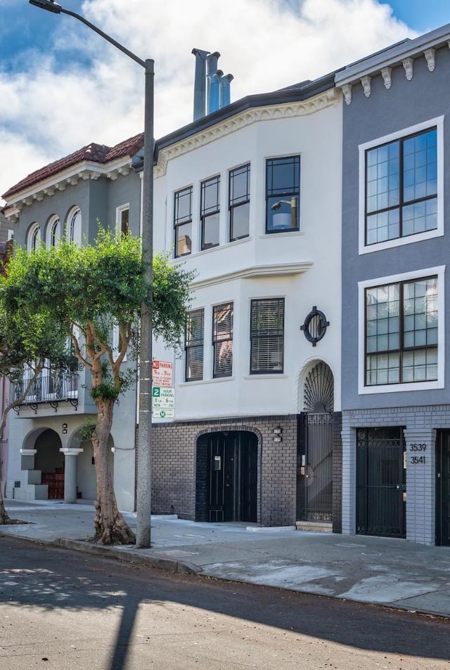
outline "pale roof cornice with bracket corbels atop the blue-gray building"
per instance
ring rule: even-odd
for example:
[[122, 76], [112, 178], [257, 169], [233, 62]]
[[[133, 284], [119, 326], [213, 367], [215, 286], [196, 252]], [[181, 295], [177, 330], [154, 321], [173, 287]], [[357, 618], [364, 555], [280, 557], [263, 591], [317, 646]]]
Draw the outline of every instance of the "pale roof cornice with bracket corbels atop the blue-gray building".
[[413, 78], [416, 58], [425, 58], [428, 70], [433, 72], [435, 51], [442, 46], [450, 46], [450, 24], [420, 35], [416, 39], [404, 39], [368, 58], [347, 65], [335, 73], [335, 84], [342, 89], [345, 102], [349, 105], [352, 102], [352, 86], [361, 84], [364, 95], [368, 98], [371, 95], [371, 78], [376, 75], [381, 75], [386, 89], [390, 89], [392, 68], [398, 65], [403, 65], [408, 81]]

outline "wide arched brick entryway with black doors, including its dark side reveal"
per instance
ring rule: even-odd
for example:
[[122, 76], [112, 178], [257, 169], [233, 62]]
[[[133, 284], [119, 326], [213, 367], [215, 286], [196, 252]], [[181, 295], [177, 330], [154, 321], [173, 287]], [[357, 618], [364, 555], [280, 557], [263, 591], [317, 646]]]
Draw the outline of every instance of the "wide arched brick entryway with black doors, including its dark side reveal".
[[197, 440], [195, 520], [257, 520], [257, 436], [224, 431]]

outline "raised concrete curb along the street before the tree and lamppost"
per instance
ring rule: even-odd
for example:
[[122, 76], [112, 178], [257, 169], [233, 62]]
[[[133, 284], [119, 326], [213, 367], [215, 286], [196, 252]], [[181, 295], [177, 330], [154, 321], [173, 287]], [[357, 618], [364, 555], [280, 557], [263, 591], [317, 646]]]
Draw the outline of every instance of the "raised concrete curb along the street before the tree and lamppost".
[[178, 572], [181, 574], [198, 574], [199, 572], [203, 572], [203, 568], [194, 563], [175, 560], [174, 558], [169, 558], [169, 556], [148, 556], [139, 553], [139, 549], [129, 550], [117, 546], [108, 547], [65, 537], [54, 540], [51, 544], [63, 549], [81, 551], [87, 554], [103, 556], [104, 558], [115, 558], [129, 563], [145, 563], [146, 565], [158, 567], [169, 572]]

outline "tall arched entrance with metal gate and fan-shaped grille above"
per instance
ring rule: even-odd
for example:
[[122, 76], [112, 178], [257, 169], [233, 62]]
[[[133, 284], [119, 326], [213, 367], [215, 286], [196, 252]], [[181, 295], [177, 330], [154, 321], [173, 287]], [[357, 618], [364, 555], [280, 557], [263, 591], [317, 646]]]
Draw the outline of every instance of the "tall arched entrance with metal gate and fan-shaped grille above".
[[330, 522], [333, 513], [334, 378], [319, 361], [304, 378], [297, 443], [297, 520]]

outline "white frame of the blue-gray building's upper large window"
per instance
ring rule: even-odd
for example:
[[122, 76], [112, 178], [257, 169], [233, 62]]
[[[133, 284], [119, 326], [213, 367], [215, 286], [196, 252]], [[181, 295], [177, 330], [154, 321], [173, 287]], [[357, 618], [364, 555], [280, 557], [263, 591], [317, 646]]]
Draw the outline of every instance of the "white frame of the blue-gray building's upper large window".
[[[382, 144], [387, 144], [413, 135], [436, 126], [437, 128], [437, 228], [432, 231], [415, 233], [406, 237], [385, 240], [366, 245], [366, 151]], [[430, 240], [444, 235], [444, 116], [436, 117], [415, 126], [401, 129], [384, 137], [365, 142], [358, 146], [359, 150], [359, 255], [370, 254], [374, 251], [412, 244], [421, 240]]]

